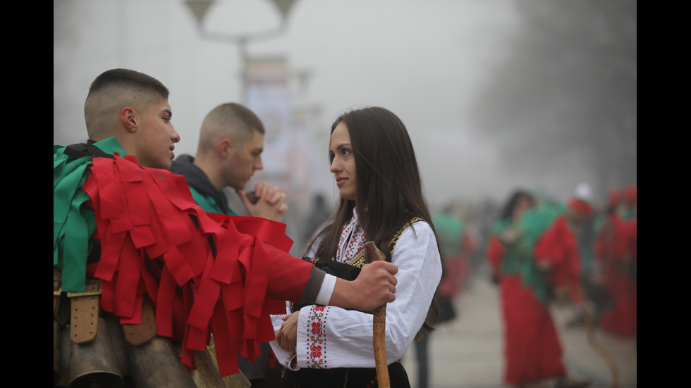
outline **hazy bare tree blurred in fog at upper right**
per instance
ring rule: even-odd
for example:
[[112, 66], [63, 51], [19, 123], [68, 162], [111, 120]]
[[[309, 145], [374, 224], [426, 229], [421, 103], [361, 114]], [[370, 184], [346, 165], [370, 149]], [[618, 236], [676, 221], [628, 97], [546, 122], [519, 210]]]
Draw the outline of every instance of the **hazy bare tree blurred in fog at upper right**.
[[636, 1], [516, 6], [525, 25], [477, 99], [480, 130], [501, 144], [510, 168], [580, 168], [601, 192], [635, 183]]

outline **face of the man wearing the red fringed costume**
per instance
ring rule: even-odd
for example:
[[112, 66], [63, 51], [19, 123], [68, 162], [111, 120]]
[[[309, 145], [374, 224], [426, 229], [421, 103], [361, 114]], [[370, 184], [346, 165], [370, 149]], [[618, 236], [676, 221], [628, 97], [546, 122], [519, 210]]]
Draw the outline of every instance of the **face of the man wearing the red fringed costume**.
[[167, 99], [159, 99], [149, 105], [148, 111], [140, 113], [137, 128], [137, 161], [144, 167], [171, 168], [175, 157], [173, 149], [180, 141], [180, 134], [171, 123], [173, 113]]

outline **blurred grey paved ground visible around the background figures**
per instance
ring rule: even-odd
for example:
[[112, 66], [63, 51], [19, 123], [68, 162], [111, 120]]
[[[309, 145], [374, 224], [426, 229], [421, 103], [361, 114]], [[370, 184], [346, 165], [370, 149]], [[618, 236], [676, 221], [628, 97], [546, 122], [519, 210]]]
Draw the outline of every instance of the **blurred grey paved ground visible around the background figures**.
[[[503, 388], [503, 354], [498, 290], [477, 276], [470, 288], [456, 301], [460, 316], [441, 325], [432, 334], [429, 388]], [[606, 358], [588, 342], [585, 327], [568, 328], [565, 323], [575, 310], [554, 308], [553, 317], [565, 350], [565, 364], [570, 375], [592, 382], [590, 387], [614, 387]], [[634, 339], [618, 339], [597, 331], [597, 343], [612, 356], [618, 388], [636, 387], [637, 349]], [[406, 353], [403, 365], [412, 388], [417, 387], [415, 349]]]

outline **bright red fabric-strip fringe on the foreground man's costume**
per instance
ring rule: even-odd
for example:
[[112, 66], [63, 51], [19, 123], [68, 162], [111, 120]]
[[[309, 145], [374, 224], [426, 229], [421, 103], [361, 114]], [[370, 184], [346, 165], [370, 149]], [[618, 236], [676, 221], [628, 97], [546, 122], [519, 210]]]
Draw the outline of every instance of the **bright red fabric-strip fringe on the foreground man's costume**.
[[102, 249], [87, 270], [102, 282], [100, 306], [141, 323], [146, 297], [157, 334], [182, 342], [183, 364], [195, 368], [213, 333], [221, 376], [238, 373], [237, 353], [253, 360], [255, 342], [274, 339], [268, 313], [300, 300], [312, 264], [286, 253], [286, 225], [205, 213], [181, 175], [129, 158], [93, 158], [82, 185]]

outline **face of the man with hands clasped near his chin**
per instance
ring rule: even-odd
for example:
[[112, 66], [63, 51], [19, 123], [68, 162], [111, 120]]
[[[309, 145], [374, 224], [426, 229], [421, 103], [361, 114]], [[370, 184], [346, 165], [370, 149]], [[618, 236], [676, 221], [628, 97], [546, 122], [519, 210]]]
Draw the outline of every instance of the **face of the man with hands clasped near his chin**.
[[264, 134], [252, 131], [252, 138], [245, 144], [233, 146], [224, 165], [224, 176], [228, 186], [236, 190], [245, 189], [255, 170], [262, 170]]

